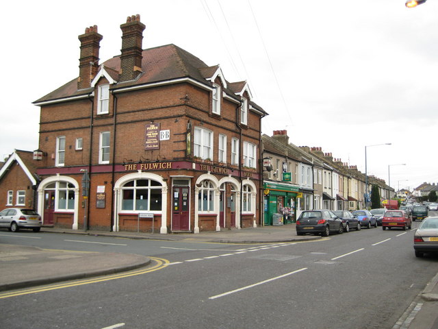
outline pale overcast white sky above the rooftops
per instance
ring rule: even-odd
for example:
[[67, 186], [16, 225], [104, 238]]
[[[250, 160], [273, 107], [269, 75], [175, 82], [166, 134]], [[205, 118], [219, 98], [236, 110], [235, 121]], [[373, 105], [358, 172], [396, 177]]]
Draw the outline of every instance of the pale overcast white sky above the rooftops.
[[[32, 104], [79, 75], [79, 40], [97, 25], [101, 62], [140, 14], [143, 48], [175, 44], [229, 82], [247, 80], [297, 146], [322, 147], [399, 188], [438, 183], [438, 0], [20, 1], [0, 13], [0, 156], [38, 149]], [[391, 145], [382, 145], [391, 143]], [[374, 146], [372, 146], [374, 145]]]

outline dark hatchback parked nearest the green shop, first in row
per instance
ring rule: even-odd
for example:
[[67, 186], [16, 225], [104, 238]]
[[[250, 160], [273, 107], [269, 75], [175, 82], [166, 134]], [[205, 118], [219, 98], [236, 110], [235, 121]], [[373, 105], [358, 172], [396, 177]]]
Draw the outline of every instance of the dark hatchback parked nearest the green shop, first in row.
[[331, 232], [344, 232], [342, 220], [331, 210], [305, 210], [296, 220], [296, 235], [313, 233], [329, 236]]

